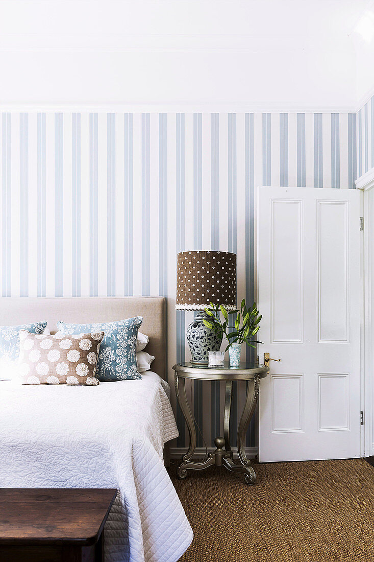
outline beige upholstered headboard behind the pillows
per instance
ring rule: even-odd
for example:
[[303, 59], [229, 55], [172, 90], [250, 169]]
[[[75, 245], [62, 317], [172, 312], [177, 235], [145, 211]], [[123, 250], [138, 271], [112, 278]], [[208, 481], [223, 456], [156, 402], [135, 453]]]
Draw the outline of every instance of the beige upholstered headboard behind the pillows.
[[143, 316], [140, 332], [149, 336], [145, 351], [154, 355], [152, 370], [166, 377], [166, 300], [164, 297], [0, 298], [0, 325], [47, 320], [51, 333], [58, 320], [74, 323], [108, 322]]

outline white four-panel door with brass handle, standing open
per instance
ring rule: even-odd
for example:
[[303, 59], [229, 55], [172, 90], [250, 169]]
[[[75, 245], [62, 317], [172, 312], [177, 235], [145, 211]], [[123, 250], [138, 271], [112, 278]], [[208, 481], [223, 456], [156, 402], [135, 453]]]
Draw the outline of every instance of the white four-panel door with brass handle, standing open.
[[360, 456], [359, 194], [261, 187], [259, 461]]

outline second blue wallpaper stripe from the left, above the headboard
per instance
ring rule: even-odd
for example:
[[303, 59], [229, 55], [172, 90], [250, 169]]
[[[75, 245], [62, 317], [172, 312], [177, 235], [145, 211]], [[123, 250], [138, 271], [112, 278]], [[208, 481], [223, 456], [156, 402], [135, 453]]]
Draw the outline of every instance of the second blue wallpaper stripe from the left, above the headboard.
[[29, 115], [20, 114], [20, 297], [29, 296]]

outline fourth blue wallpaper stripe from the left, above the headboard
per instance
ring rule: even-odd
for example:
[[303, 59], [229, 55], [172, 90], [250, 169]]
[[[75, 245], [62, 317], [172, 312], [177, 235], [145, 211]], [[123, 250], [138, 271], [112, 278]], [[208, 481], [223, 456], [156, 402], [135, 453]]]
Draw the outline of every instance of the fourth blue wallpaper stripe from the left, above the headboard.
[[54, 114], [54, 296], [63, 296], [63, 114]]

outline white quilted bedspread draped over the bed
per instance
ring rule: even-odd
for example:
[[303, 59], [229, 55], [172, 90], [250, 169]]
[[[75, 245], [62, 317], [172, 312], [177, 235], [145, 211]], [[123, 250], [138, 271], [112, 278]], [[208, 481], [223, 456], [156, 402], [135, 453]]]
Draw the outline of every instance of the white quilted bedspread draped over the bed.
[[0, 487], [117, 488], [107, 562], [175, 562], [193, 538], [163, 465], [177, 436], [166, 383], [15, 386], [0, 382]]

